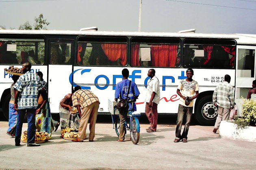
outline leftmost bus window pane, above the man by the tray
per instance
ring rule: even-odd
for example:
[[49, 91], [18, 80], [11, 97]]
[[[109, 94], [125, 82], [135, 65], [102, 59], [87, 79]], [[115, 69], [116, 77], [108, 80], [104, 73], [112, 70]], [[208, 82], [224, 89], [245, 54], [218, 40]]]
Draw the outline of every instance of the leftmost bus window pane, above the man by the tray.
[[43, 39], [0, 38], [0, 64], [44, 64]]

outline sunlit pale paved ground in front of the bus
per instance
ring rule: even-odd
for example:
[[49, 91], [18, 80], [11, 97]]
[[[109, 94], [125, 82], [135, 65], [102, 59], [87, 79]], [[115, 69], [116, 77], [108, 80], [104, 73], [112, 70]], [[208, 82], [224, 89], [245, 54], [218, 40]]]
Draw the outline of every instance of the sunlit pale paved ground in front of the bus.
[[[5, 134], [7, 121], [0, 121], [0, 168], [3, 169], [255, 169], [256, 142], [219, 138], [213, 127], [192, 125], [187, 143], [174, 143], [175, 119], [164, 118], [155, 133], [147, 133], [145, 119], [140, 141], [117, 142], [110, 117], [96, 125], [95, 142], [75, 143], [59, 138], [41, 147], [14, 146]], [[169, 118], [168, 118], [169, 119]], [[24, 123], [24, 130], [26, 130]], [[129, 138], [129, 136], [127, 136]]]

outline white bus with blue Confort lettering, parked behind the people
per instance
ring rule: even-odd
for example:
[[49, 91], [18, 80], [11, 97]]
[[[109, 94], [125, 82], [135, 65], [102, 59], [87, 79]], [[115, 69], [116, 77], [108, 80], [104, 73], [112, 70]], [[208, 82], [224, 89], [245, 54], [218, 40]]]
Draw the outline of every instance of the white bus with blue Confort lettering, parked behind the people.
[[241, 96], [246, 98], [256, 78], [255, 50], [256, 35], [247, 34], [0, 30], [0, 107], [8, 119], [12, 75], [4, 68], [21, 68], [30, 61], [32, 70], [43, 72], [48, 82], [52, 113], [59, 113], [60, 100], [76, 85], [99, 97], [99, 114], [109, 113], [108, 99], [114, 99], [123, 68], [139, 87], [137, 108], [145, 113], [147, 72], [154, 68], [161, 86], [158, 113], [177, 114], [178, 82], [186, 78], [187, 68], [193, 68], [200, 87], [194, 117], [201, 125], [213, 125], [215, 87], [229, 74], [241, 105]]

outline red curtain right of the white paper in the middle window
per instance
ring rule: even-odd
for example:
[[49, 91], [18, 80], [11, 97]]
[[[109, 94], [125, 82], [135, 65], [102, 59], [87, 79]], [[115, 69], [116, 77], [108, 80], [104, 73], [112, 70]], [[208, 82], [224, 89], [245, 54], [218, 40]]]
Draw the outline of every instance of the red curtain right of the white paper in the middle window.
[[174, 67], [178, 45], [151, 45], [152, 66]]

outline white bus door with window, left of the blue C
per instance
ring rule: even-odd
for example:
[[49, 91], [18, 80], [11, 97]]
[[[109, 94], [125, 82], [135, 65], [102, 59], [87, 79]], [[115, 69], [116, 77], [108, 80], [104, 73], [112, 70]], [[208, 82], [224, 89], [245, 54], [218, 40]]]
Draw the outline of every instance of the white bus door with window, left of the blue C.
[[73, 51], [73, 40], [50, 40], [49, 42], [48, 97], [51, 113], [59, 113], [61, 99], [72, 92], [69, 75], [72, 73]]

